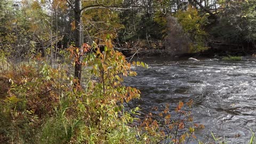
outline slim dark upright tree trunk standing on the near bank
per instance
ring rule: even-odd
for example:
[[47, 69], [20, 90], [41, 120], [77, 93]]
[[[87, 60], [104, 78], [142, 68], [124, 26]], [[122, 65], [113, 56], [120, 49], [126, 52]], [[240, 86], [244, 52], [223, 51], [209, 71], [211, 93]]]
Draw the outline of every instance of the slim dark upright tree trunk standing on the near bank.
[[81, 20], [81, 9], [82, 9], [82, 1], [75, 1], [75, 45], [79, 48], [80, 55], [78, 56], [78, 60], [75, 62], [75, 78], [78, 79], [78, 83], [76, 85], [80, 85], [81, 82], [81, 72], [82, 72], [82, 20]]

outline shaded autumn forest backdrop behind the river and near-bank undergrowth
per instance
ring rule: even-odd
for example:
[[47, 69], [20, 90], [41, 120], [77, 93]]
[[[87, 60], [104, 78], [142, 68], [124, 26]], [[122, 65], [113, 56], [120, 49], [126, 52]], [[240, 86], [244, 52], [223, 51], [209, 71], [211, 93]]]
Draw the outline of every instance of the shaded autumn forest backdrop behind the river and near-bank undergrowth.
[[[1, 1], [1, 50], [17, 58], [40, 51], [57, 59], [60, 50], [75, 43], [74, 3]], [[82, 5], [87, 7], [82, 12], [83, 43], [101, 45], [109, 34], [116, 49], [133, 53], [255, 48], [254, 1], [85, 1]], [[170, 41], [174, 41], [171, 46]], [[188, 48], [176, 52], [182, 47]]]

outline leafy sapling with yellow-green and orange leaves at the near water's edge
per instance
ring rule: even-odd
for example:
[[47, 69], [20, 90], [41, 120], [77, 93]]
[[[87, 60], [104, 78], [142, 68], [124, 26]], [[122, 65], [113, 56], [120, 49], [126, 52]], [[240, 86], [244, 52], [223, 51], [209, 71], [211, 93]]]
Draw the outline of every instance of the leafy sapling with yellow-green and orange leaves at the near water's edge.
[[[131, 71], [131, 64], [125, 60], [122, 53], [113, 50], [110, 39], [106, 40], [105, 51], [100, 52], [95, 43], [92, 49], [95, 53], [86, 55], [84, 65], [90, 67], [89, 73], [93, 79], [89, 79], [85, 90], [77, 91], [72, 96], [76, 99], [69, 106], [71, 109], [76, 109], [76, 117], [87, 125], [87, 129], [81, 131], [82, 136], [78, 136], [79, 141], [95, 143], [126, 143], [128, 139], [137, 141], [133, 130], [126, 125], [131, 123], [133, 118], [122, 111], [124, 101], [129, 102], [140, 97], [139, 90], [122, 85], [124, 76], [135, 76], [136, 73]], [[70, 51], [76, 53], [76, 47], [71, 47]], [[145, 66], [142, 62], [137, 64]]]

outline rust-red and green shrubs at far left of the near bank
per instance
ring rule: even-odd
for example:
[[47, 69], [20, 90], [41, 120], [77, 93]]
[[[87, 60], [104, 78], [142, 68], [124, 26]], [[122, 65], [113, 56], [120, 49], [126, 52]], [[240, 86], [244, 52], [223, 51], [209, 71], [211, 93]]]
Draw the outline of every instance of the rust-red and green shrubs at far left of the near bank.
[[11, 66], [0, 74], [12, 82], [0, 99], [0, 133], [9, 142], [38, 143], [45, 118], [55, 115], [60, 95], [71, 90], [68, 77], [65, 70], [51, 69], [43, 61]]

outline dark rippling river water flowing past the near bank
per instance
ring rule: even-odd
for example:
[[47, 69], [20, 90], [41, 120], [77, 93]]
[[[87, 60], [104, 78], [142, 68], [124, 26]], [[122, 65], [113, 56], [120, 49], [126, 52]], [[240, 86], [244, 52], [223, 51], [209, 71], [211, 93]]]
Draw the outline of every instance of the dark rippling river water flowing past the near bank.
[[[206, 140], [211, 132], [229, 143], [248, 143], [256, 132], [256, 61], [200, 61], [150, 58], [149, 68], [135, 68], [138, 76], [125, 79], [141, 91], [139, 106], [146, 115], [166, 103], [174, 109], [179, 101], [194, 100], [194, 123], [204, 124], [197, 137]], [[134, 105], [135, 103], [135, 105]], [[194, 142], [190, 142], [194, 143]], [[198, 143], [198, 142], [197, 142]]]

